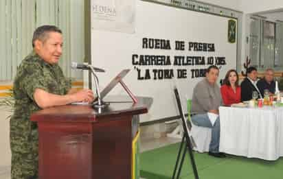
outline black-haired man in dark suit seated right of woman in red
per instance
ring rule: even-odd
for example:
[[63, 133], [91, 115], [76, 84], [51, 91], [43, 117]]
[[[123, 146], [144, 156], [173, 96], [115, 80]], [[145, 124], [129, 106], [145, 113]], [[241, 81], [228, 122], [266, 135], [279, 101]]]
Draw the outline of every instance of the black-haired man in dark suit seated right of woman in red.
[[247, 77], [240, 84], [241, 88], [241, 101], [251, 100], [253, 91], [258, 92], [258, 98], [262, 98], [258, 87], [256, 86], [258, 80], [258, 71], [255, 67], [249, 67], [247, 69]]

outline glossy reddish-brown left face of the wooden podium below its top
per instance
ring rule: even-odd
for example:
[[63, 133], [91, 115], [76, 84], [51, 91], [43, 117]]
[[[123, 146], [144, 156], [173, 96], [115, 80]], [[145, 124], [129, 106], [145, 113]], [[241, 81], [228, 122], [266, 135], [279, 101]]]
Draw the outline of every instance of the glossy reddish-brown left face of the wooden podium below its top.
[[91, 179], [91, 123], [38, 123], [39, 178]]

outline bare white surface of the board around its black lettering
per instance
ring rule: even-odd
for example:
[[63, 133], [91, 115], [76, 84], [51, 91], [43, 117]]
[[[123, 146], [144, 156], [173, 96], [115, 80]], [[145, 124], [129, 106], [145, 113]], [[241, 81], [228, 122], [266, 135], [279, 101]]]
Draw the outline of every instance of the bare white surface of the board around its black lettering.
[[[141, 117], [142, 122], [177, 116], [177, 110], [172, 107], [175, 106], [172, 93], [174, 84], [179, 86], [181, 97], [184, 99], [185, 97], [191, 98], [194, 85], [201, 80], [201, 78], [191, 77], [191, 69], [204, 69], [208, 66], [207, 63], [196, 66], [185, 64], [177, 66], [173, 64], [174, 56], [205, 56], [206, 60], [209, 56], [224, 56], [226, 65], [221, 68], [219, 79], [223, 79], [229, 69], [236, 68], [237, 43], [231, 44], [227, 41], [228, 18], [145, 1], [137, 1], [136, 16], [135, 34], [92, 30], [91, 53], [92, 63], [107, 71], [107, 73], [98, 74], [101, 86], [106, 86], [111, 77], [114, 77], [122, 69], [133, 69], [125, 77], [124, 82], [128, 84], [135, 95], [154, 98], [154, 103], [148, 112], [150, 117]], [[163, 18], [160, 19], [160, 16]], [[175, 19], [175, 21], [172, 21], [172, 19]], [[199, 23], [200, 21], [203, 23]], [[97, 24], [93, 23], [92, 25]], [[209, 29], [209, 32], [207, 29]], [[168, 39], [172, 49], [144, 49], [142, 48], [142, 38], [144, 37]], [[184, 40], [185, 50], [174, 50], [174, 40]], [[188, 51], [188, 42], [214, 43], [216, 50], [214, 52]], [[132, 54], [170, 56], [172, 65], [148, 65], [146, 67], [134, 65], [132, 64]], [[141, 70], [143, 77], [145, 70], [149, 69], [151, 79], [137, 80], [137, 71], [133, 66]], [[152, 69], [173, 69], [174, 77], [153, 80]], [[177, 69], [188, 71], [188, 77], [177, 79]], [[124, 95], [124, 91], [118, 86], [111, 91], [111, 95], [113, 94]], [[162, 111], [160, 110], [161, 106]]]

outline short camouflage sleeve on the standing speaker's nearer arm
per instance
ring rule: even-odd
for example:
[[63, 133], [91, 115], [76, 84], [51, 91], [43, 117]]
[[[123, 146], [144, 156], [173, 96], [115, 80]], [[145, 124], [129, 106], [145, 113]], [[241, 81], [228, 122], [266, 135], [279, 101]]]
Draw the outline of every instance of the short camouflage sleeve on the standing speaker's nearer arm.
[[41, 71], [41, 67], [35, 64], [27, 64], [23, 68], [20, 86], [23, 88], [23, 91], [27, 93], [30, 99], [34, 101], [34, 92], [36, 88], [41, 88], [44, 91], [49, 92]]

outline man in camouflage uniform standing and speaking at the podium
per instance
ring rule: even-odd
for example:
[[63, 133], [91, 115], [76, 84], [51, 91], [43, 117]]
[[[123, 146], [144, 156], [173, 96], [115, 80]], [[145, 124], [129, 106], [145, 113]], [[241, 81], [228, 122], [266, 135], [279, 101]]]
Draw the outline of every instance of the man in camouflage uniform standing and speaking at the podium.
[[75, 91], [58, 66], [63, 36], [58, 27], [38, 27], [32, 53], [25, 57], [14, 79], [14, 115], [10, 120], [12, 179], [38, 178], [38, 131], [30, 121], [33, 112], [72, 102], [92, 102], [89, 89]]

